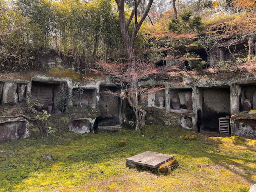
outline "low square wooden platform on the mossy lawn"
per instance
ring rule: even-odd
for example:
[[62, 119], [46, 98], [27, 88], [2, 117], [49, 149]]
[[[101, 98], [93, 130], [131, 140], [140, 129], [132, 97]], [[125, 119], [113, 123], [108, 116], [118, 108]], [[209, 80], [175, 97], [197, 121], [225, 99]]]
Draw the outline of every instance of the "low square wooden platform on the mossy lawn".
[[134, 155], [126, 159], [126, 166], [146, 166], [150, 168], [157, 168], [161, 164], [173, 159], [173, 155], [166, 155], [162, 153], [146, 151], [138, 155]]

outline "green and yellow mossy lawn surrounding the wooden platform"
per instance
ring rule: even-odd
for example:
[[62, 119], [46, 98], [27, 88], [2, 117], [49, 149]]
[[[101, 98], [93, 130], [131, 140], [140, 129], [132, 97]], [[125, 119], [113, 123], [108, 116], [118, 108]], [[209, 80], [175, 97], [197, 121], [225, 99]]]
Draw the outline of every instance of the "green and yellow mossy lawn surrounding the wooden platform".
[[[56, 132], [0, 144], [0, 191], [245, 192], [256, 183], [256, 141], [238, 136], [180, 139], [195, 132], [146, 126], [98, 134]], [[118, 146], [125, 140], [126, 146]], [[126, 167], [126, 158], [174, 155], [172, 173]], [[42, 159], [51, 154], [54, 161]]]

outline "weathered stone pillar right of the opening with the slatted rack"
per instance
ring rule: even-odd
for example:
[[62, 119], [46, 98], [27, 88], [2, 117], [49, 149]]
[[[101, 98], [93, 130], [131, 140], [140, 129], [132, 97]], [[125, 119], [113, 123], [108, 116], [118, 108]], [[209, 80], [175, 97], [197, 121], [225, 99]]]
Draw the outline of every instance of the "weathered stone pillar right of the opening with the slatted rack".
[[230, 113], [231, 113], [231, 115], [239, 112], [239, 104], [240, 104], [239, 96], [240, 95], [241, 95], [241, 86], [238, 84], [232, 84], [230, 86]]

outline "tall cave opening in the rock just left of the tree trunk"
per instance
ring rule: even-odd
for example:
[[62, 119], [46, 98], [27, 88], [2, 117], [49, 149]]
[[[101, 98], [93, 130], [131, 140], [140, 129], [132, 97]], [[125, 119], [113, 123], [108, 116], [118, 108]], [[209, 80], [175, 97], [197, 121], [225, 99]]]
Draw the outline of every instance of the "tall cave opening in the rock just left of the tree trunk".
[[120, 92], [120, 88], [114, 86], [100, 86], [98, 128], [120, 125], [120, 97], [112, 93]]

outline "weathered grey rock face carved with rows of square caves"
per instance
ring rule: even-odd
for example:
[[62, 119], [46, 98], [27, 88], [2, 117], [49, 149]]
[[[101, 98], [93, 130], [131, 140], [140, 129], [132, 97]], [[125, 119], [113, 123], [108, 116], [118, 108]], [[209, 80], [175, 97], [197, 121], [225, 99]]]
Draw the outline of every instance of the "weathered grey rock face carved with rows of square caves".
[[[16, 74], [17, 75], [17, 74]], [[125, 100], [107, 94], [104, 91], [118, 91], [120, 87], [107, 77], [97, 81], [75, 81], [71, 78], [56, 78], [50, 76], [30, 76], [22, 79], [10, 78], [0, 75], [1, 104], [25, 102], [28, 96], [40, 98], [43, 108], [52, 107], [52, 113], [60, 113], [57, 104], [60, 100], [59, 90], [66, 88], [70, 97], [68, 105], [74, 107], [88, 106], [99, 108], [100, 115], [97, 118], [98, 126], [116, 126], [129, 124], [132, 126], [132, 111]], [[142, 81], [140, 86], [161, 86], [164, 90], [148, 94], [148, 98], [140, 100], [142, 107], [146, 108], [147, 123], [163, 123], [170, 126], [181, 126], [186, 129], [200, 131], [219, 132], [218, 118], [237, 115], [244, 112], [245, 104], [250, 103], [251, 108], [256, 107], [256, 72], [241, 72], [232, 74], [181, 74], [178, 81], [172, 79]], [[82, 90], [79, 93], [77, 90]], [[77, 93], [78, 92], [78, 93]], [[78, 95], [76, 95], [78, 94]], [[244, 102], [246, 101], [246, 102]], [[249, 117], [248, 117], [249, 116]], [[247, 114], [246, 117], [230, 119], [231, 134], [246, 137], [256, 137], [254, 118], [256, 114]], [[70, 131], [91, 132], [92, 122], [80, 118], [95, 117], [79, 116], [70, 119]], [[2, 125], [5, 130], [6, 125]], [[10, 129], [10, 136], [14, 138], [16, 130]]]

